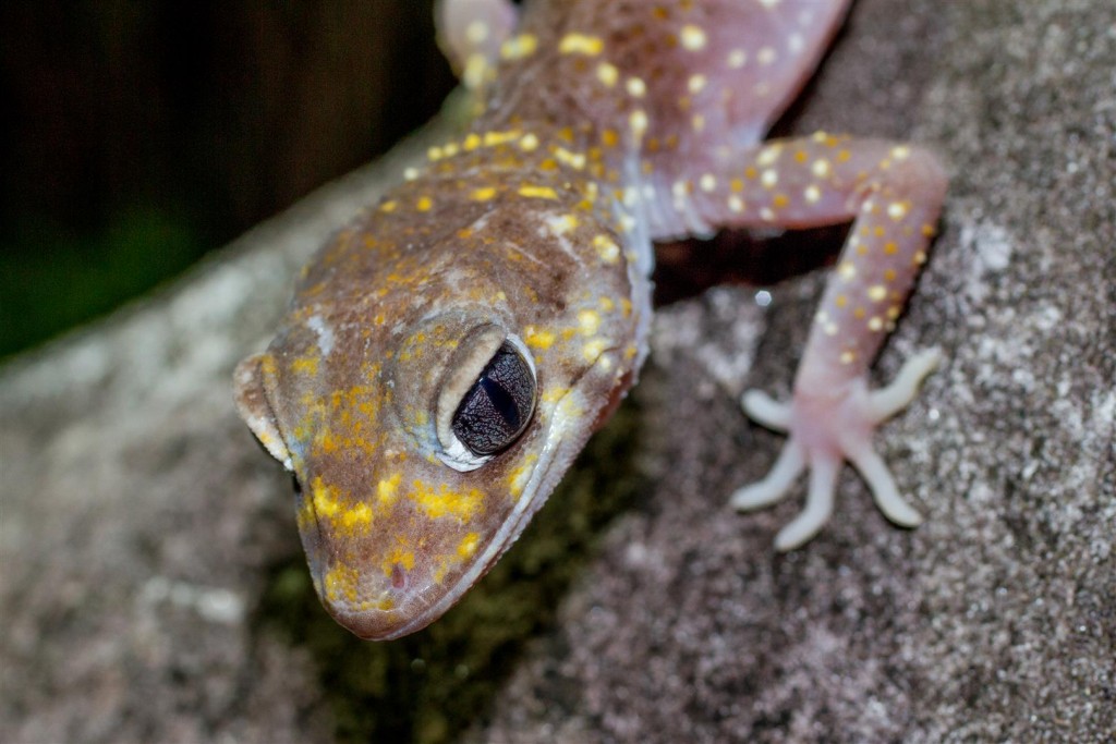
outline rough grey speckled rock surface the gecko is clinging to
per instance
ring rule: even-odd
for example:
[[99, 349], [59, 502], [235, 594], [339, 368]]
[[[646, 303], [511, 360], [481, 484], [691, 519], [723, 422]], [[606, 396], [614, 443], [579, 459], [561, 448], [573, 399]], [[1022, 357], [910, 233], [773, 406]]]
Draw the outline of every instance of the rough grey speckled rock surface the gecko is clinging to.
[[[799, 504], [725, 508], [781, 445], [733, 398], [786, 394], [822, 278], [775, 288], [767, 310], [740, 288], [672, 305], [636, 405], [603, 433], [638, 441], [639, 499], [581, 551], [526, 651], [493, 667], [499, 690], [465, 740], [1116, 732], [1116, 8], [863, 0], [789, 127], [913, 137], [951, 165], [944, 232], [878, 364], [884, 380], [914, 349], [949, 358], [879, 438], [927, 522], [889, 526], [846, 473], [825, 532], [773, 554]], [[323, 644], [354, 666], [373, 658], [357, 649], [400, 657], [388, 687], [416, 684], [398, 668], [480, 684], [487, 668], [460, 649], [427, 664], [436, 636], [320, 641], [260, 619], [298, 544], [228, 375], [296, 267], [397, 172], [335, 184], [171, 291], [0, 371], [0, 740], [329, 741], [359, 698], [355, 677], [321, 671]], [[456, 642], [483, 646], [503, 622], [484, 612], [517, 586]], [[407, 733], [446, 741], [461, 725]], [[341, 735], [369, 731], [384, 727]]]

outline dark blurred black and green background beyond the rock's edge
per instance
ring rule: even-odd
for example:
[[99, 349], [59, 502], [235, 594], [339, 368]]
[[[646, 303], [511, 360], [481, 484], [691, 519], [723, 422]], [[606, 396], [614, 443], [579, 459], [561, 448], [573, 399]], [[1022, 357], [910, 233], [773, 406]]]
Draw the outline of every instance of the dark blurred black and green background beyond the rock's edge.
[[0, 358], [430, 118], [453, 86], [431, 6], [0, 3]]

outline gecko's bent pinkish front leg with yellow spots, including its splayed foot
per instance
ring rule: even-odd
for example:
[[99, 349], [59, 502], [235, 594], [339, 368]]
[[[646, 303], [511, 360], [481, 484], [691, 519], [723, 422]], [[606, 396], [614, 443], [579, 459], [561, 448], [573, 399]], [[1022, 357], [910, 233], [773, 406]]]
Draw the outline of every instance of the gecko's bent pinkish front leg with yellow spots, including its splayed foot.
[[788, 441], [770, 474], [737, 491], [731, 504], [751, 510], [775, 503], [808, 470], [806, 508], [776, 538], [779, 550], [797, 548], [833, 513], [837, 476], [848, 462], [889, 520], [917, 524], [921, 516], [901, 497], [872, 439], [882, 422], [914, 398], [940, 355], [914, 356], [878, 390], [869, 388], [868, 368], [926, 261], [945, 196], [941, 166], [912, 145], [825, 133], [742, 148], [723, 165], [705, 166], [671, 187], [680, 221], [710, 228], [853, 221], [815, 315], [791, 400], [777, 403], [756, 392], [743, 398], [749, 416], [786, 432]]

